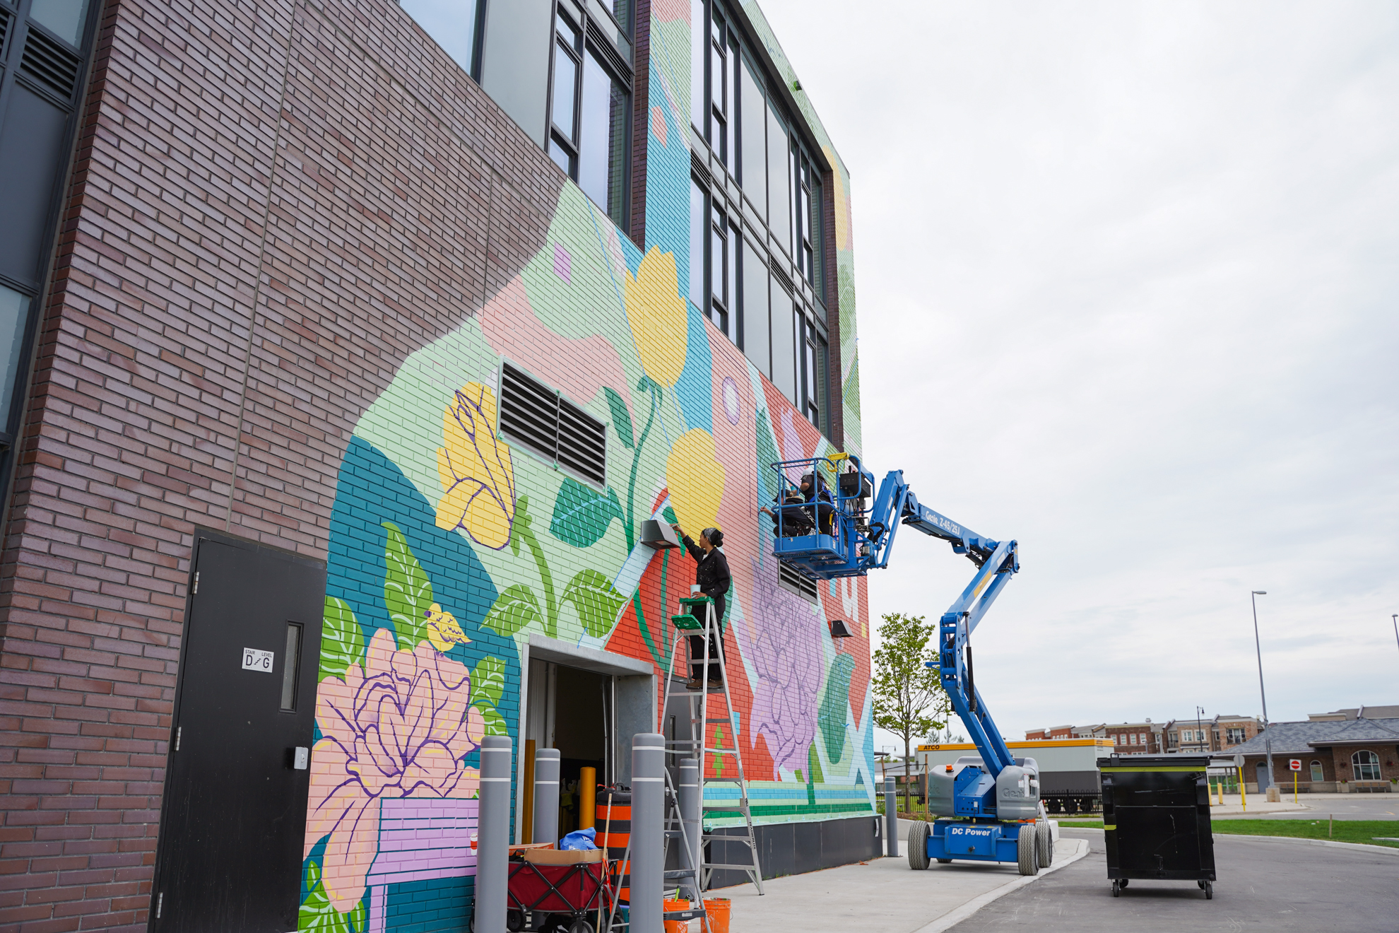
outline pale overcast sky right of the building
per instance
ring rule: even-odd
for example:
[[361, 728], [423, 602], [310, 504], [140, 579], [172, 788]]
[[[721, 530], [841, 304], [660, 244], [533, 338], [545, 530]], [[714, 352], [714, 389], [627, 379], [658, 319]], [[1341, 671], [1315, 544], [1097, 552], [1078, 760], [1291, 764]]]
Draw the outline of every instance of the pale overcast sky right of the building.
[[[1252, 589], [1273, 720], [1399, 704], [1399, 4], [762, 6], [852, 175], [866, 460], [1020, 541], [1002, 732], [1259, 715]], [[872, 614], [972, 572], [905, 532]]]

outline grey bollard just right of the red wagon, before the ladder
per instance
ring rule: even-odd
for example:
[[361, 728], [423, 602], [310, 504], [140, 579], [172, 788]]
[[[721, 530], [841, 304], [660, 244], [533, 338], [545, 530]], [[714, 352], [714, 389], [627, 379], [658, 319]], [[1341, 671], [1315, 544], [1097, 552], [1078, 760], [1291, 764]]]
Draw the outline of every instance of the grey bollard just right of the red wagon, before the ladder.
[[641, 732], [631, 737], [631, 927], [630, 933], [662, 932], [665, 885], [663, 813], [666, 800], [666, 737]]

